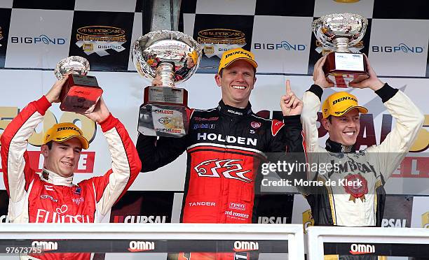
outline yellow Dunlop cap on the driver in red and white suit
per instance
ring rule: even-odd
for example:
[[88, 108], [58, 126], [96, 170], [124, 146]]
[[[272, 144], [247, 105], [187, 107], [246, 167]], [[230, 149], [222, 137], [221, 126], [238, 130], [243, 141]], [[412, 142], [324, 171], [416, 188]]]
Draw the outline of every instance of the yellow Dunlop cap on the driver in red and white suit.
[[82, 130], [79, 129], [79, 127], [76, 127], [76, 124], [73, 123], [54, 124], [53, 127], [46, 131], [45, 137], [43, 138], [43, 144], [46, 144], [51, 140], [62, 143], [74, 137], [81, 141], [83, 149], [88, 149], [88, 140], [83, 137]]

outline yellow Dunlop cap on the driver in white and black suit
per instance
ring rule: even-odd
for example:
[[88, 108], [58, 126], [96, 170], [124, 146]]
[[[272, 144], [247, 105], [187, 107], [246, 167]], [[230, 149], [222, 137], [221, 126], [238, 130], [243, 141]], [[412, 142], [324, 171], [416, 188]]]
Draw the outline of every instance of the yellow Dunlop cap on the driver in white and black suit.
[[334, 117], [341, 117], [348, 113], [353, 108], [357, 108], [360, 113], [368, 113], [367, 108], [357, 105], [356, 96], [348, 92], [336, 92], [327, 97], [325, 102], [322, 104], [322, 115], [323, 118], [333, 115]]

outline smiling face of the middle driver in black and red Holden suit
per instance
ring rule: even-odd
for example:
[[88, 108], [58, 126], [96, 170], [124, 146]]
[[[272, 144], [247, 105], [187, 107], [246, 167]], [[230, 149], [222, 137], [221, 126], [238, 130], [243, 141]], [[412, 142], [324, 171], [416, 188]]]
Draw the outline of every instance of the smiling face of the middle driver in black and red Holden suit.
[[226, 105], [245, 108], [249, 103], [256, 77], [254, 67], [243, 59], [238, 59], [222, 69], [222, 76], [214, 76], [216, 84], [222, 88], [222, 101]]

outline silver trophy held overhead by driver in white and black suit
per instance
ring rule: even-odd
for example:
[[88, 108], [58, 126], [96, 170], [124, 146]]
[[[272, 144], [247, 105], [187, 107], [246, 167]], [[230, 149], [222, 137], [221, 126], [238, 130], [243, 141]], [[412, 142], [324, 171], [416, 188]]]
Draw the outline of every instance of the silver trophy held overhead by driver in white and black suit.
[[324, 15], [313, 22], [313, 33], [325, 48], [333, 50], [327, 55], [323, 71], [335, 87], [348, 87], [349, 82], [369, 78], [362, 53], [348, 48], [362, 40], [368, 20], [353, 13]]

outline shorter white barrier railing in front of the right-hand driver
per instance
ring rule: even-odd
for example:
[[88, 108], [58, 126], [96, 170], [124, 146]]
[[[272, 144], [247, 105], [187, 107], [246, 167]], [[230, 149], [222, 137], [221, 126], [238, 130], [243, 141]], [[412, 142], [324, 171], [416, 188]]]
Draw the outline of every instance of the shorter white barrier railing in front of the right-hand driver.
[[390, 251], [394, 251], [392, 249], [400, 244], [409, 244], [404, 247], [410, 249], [411, 245], [424, 245], [429, 252], [429, 229], [309, 226], [306, 231], [308, 260], [323, 259], [324, 243], [344, 243], [352, 254], [383, 255], [386, 249], [376, 250], [378, 247], [388, 245]]

